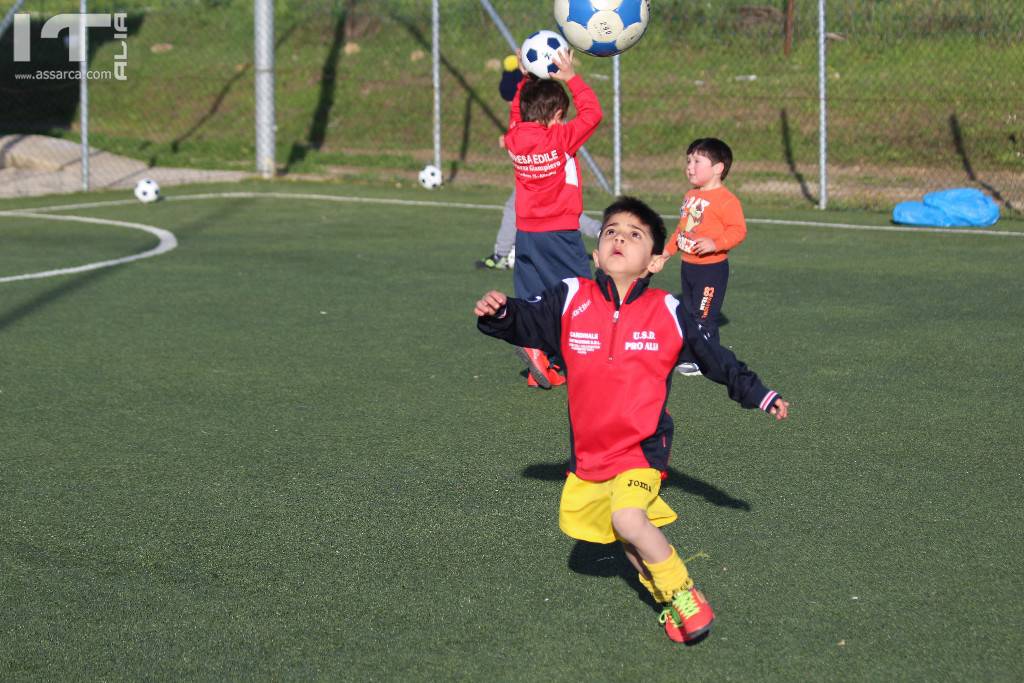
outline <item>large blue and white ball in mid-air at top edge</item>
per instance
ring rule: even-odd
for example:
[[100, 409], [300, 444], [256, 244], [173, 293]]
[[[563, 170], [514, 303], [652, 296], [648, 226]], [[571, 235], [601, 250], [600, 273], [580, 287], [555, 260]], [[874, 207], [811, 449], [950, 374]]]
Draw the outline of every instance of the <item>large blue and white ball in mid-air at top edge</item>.
[[637, 44], [647, 30], [650, 0], [555, 0], [555, 22], [569, 45], [610, 57]]

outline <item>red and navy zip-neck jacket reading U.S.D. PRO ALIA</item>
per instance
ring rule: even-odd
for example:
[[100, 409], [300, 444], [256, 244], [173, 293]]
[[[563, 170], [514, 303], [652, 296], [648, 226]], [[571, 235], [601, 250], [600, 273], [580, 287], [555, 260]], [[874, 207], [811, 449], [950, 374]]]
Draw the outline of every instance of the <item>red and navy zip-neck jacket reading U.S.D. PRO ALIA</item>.
[[778, 394], [713, 341], [663, 290], [637, 280], [625, 301], [601, 270], [571, 278], [529, 300], [509, 299], [481, 332], [564, 359], [569, 399], [569, 471], [604, 481], [652, 467], [665, 472], [673, 422], [666, 411], [672, 375], [684, 346], [705, 377], [724, 384], [743, 408], [771, 409]]

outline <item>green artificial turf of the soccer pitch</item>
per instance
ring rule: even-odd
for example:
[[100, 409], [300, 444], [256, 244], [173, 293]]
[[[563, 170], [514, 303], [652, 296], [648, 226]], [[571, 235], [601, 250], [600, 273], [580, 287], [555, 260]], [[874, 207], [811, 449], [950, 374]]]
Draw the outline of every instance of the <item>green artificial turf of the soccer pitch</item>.
[[[474, 327], [511, 289], [472, 267], [498, 208], [182, 199], [218, 189], [505, 199], [250, 183], [55, 212], [179, 247], [0, 284], [0, 678], [1024, 676], [1024, 238], [748, 207], [722, 339], [792, 419], [674, 381], [667, 531], [718, 613], [681, 647], [614, 548], [557, 528], [564, 391]], [[156, 242], [0, 236], [0, 276]]]

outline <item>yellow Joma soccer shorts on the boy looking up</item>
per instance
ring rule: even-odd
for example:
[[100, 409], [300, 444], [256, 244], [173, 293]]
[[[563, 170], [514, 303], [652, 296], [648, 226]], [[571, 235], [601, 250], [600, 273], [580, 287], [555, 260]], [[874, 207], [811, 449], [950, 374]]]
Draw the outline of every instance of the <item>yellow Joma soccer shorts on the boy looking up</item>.
[[647, 511], [654, 526], [676, 521], [677, 515], [662, 500], [662, 473], [644, 467], [626, 470], [607, 481], [585, 481], [569, 473], [562, 487], [558, 526], [573, 539], [591, 543], [618, 541], [611, 526], [611, 513], [624, 508]]

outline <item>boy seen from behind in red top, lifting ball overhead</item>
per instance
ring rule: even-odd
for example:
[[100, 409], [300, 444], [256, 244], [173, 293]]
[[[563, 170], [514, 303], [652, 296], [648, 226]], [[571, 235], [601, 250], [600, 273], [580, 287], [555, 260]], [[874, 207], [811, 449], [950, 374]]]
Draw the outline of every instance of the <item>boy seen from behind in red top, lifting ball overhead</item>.
[[[515, 294], [528, 299], [565, 278], [590, 278], [590, 261], [580, 237], [583, 189], [575, 153], [601, 123], [597, 95], [572, 68], [572, 53], [554, 58], [552, 80], [525, 77], [512, 98], [505, 148], [515, 168]], [[520, 69], [522, 69], [520, 60]], [[569, 98], [577, 116], [568, 120]], [[529, 369], [527, 383], [551, 388], [564, 379], [538, 348], [520, 348]]]

